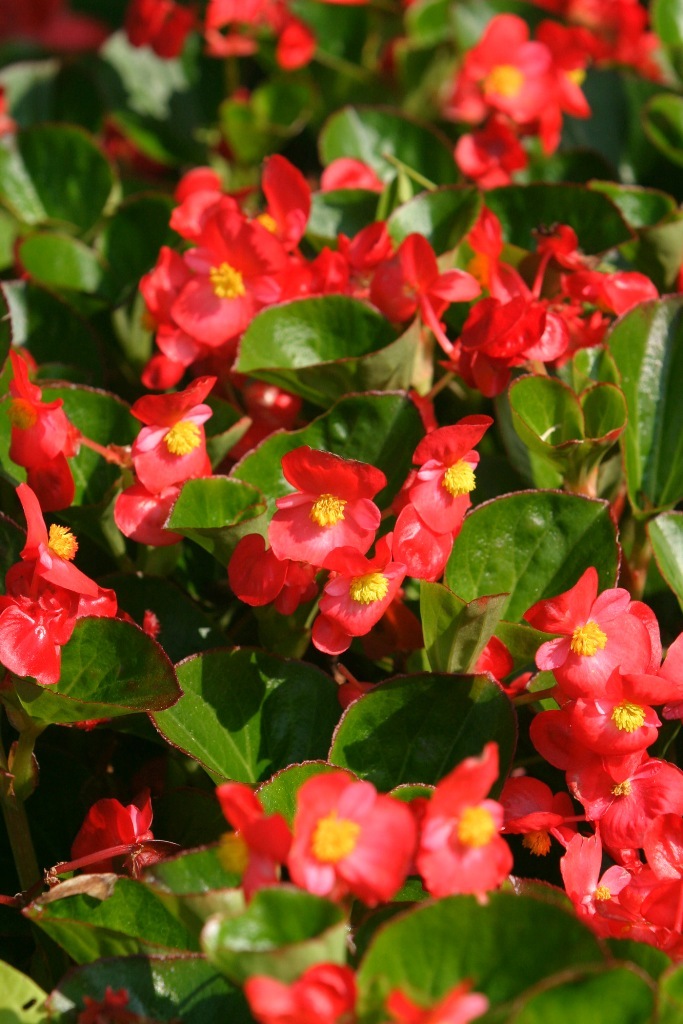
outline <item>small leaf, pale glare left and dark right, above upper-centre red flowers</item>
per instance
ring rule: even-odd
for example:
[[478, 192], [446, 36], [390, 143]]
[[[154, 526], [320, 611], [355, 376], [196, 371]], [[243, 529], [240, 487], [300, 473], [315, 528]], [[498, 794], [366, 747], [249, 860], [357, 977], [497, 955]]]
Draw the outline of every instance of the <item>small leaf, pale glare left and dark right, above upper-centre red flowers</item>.
[[455, 185], [421, 193], [393, 211], [388, 228], [394, 242], [414, 231], [424, 234], [436, 254], [455, 249], [474, 225], [481, 209], [476, 188]]

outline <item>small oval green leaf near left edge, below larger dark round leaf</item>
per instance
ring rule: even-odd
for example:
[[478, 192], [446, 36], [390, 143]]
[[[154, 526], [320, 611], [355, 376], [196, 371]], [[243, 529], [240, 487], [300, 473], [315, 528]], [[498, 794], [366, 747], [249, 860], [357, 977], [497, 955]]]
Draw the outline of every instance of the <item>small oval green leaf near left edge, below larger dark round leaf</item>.
[[38, 284], [92, 295], [104, 273], [100, 258], [79, 239], [56, 231], [36, 231], [18, 247], [26, 272]]

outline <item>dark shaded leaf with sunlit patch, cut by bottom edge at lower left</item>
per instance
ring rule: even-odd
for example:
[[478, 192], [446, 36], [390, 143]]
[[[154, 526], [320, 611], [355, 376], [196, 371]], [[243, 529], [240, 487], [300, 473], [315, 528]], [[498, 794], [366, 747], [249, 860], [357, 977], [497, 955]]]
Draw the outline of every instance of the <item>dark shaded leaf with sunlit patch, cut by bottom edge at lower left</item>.
[[251, 1024], [243, 994], [200, 956], [114, 956], [79, 967], [48, 999], [50, 1020], [72, 1024], [84, 996], [103, 999], [108, 988], [125, 989], [126, 1011], [174, 1024]]

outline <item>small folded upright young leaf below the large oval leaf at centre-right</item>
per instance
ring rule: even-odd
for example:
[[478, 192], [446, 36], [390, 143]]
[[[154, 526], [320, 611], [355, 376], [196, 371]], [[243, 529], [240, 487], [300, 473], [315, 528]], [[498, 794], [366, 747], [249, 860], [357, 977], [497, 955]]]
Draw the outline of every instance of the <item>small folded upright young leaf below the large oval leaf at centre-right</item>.
[[420, 585], [420, 617], [432, 672], [474, 672], [501, 617], [505, 594], [470, 604], [439, 583]]

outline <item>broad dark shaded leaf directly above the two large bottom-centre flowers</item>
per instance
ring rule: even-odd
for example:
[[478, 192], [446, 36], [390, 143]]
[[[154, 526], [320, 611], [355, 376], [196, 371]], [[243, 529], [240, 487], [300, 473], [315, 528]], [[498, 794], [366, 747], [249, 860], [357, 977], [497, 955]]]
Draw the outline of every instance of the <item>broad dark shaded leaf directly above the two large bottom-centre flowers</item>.
[[487, 676], [399, 676], [346, 709], [329, 760], [388, 791], [403, 782], [438, 782], [490, 740], [500, 748], [502, 785], [516, 720]]

